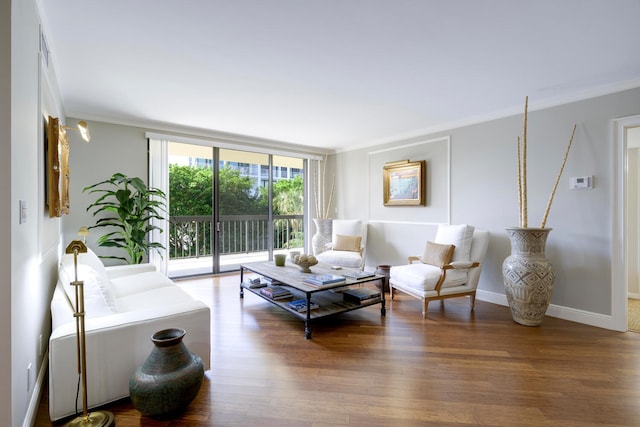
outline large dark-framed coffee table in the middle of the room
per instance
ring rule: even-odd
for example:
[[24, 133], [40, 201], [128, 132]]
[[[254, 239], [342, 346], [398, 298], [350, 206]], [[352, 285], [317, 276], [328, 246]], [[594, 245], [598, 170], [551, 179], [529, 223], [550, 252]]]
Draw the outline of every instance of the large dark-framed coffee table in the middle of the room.
[[[280, 282], [278, 286], [284, 286], [293, 294], [292, 299], [306, 299], [307, 310], [305, 312], [298, 312], [288, 306], [291, 299], [286, 300], [274, 300], [260, 293], [262, 288], [251, 288], [248, 283], [244, 281], [245, 271], [258, 274], [262, 277], [277, 280]], [[350, 269], [333, 270], [328, 265], [317, 264], [311, 267], [311, 273], [303, 273], [300, 268], [291, 264], [288, 260], [285, 266], [278, 267], [273, 262], [254, 262], [240, 265], [240, 298], [244, 298], [244, 290], [259, 296], [260, 298], [269, 301], [270, 303], [282, 308], [293, 314], [294, 316], [304, 320], [304, 333], [306, 339], [311, 339], [311, 321], [319, 319], [321, 317], [332, 316], [338, 313], [344, 313], [347, 311], [358, 310], [361, 308], [369, 307], [375, 304], [381, 304], [380, 315], [386, 315], [385, 296], [384, 296], [384, 282], [386, 277], [380, 274], [374, 274], [371, 277], [363, 279], [350, 279], [347, 278], [346, 283], [329, 284], [324, 286], [313, 286], [304, 282], [305, 277], [310, 275], [318, 275], [324, 273], [331, 273], [336, 275], [343, 275], [349, 271], [356, 271]], [[359, 270], [357, 270], [359, 271]], [[380, 282], [379, 290], [380, 297], [372, 301], [364, 301], [361, 303], [351, 302], [344, 300], [342, 293], [333, 292], [337, 288], [343, 288], [345, 286], [366, 286], [375, 284], [376, 281]], [[314, 310], [310, 310], [311, 301], [319, 304], [320, 307]]]

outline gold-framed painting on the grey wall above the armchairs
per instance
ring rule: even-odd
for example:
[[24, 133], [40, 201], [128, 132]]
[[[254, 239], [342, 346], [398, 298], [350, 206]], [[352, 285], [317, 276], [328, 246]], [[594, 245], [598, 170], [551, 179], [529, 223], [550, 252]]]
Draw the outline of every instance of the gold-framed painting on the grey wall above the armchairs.
[[426, 168], [424, 160], [385, 163], [382, 177], [384, 205], [425, 206]]

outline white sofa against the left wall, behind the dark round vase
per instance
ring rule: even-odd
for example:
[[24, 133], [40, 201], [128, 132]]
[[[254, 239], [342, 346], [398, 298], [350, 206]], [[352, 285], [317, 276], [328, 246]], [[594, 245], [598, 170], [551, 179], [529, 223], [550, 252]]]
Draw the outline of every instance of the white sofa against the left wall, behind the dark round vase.
[[[73, 255], [65, 254], [51, 301], [49, 339], [49, 417], [82, 413], [77, 400], [78, 368]], [[183, 342], [210, 368], [210, 310], [150, 264], [104, 267], [89, 249], [78, 256], [84, 282], [88, 407], [127, 397], [129, 379], [151, 353], [151, 336], [160, 330], [186, 330]]]

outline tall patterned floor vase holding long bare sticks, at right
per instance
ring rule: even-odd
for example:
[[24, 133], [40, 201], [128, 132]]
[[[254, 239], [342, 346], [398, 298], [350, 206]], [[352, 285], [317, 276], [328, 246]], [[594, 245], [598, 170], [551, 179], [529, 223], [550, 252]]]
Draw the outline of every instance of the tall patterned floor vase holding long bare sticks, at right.
[[517, 323], [539, 326], [544, 319], [555, 273], [545, 258], [550, 228], [507, 227], [511, 255], [502, 263], [505, 293]]

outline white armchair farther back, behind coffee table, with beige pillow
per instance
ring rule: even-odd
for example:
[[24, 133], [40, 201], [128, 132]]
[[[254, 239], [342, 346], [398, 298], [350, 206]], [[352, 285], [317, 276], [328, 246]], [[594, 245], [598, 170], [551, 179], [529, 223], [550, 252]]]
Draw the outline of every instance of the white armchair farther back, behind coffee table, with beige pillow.
[[331, 242], [318, 261], [347, 268], [364, 268], [367, 225], [359, 219], [334, 219]]

